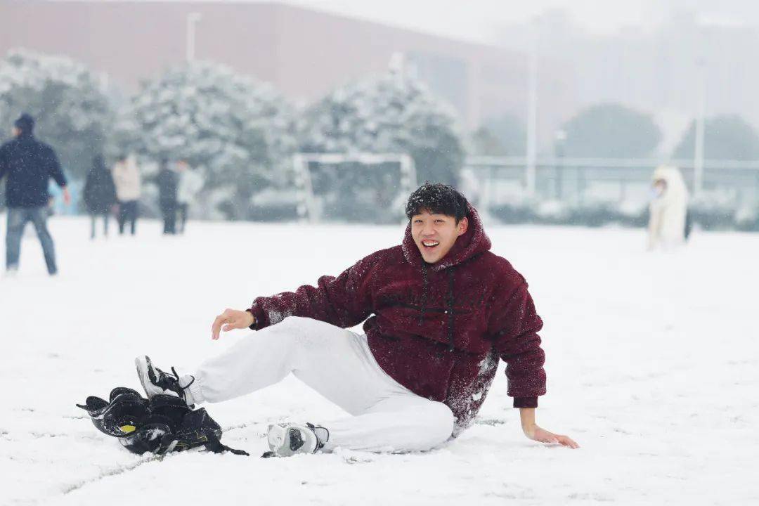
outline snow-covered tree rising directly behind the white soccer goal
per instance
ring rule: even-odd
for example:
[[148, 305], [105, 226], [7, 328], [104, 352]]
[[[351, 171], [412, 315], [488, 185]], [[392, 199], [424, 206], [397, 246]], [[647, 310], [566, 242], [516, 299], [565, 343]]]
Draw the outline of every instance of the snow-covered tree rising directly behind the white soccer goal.
[[419, 80], [389, 71], [340, 86], [305, 115], [305, 152], [398, 152], [414, 159], [417, 180], [458, 182], [464, 149], [452, 109]]

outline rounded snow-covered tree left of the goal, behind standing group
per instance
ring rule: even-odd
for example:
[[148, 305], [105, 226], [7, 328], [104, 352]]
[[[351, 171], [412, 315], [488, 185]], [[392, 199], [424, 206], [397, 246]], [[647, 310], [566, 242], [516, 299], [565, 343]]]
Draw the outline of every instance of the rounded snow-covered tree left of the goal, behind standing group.
[[144, 83], [117, 130], [121, 150], [201, 171], [203, 198], [229, 219], [247, 218], [257, 191], [288, 181], [296, 146], [291, 108], [272, 86], [204, 61]]

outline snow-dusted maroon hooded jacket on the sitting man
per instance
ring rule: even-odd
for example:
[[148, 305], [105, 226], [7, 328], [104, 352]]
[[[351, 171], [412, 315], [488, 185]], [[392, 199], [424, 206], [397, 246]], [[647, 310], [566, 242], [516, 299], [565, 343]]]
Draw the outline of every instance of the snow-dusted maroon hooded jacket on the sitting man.
[[370, 349], [385, 372], [422, 397], [442, 401], [468, 426], [505, 360], [515, 407], [537, 407], [546, 393], [543, 326], [528, 285], [490, 253], [490, 239], [470, 207], [468, 231], [439, 262], [422, 260], [406, 228], [401, 246], [361, 259], [318, 286], [258, 297], [254, 328], [305, 316], [342, 328], [364, 322]]

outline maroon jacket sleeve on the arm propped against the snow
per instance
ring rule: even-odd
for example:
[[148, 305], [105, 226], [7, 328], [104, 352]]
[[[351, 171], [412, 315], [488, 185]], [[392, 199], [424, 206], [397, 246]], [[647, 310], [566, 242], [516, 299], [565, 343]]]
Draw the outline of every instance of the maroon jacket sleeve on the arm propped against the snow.
[[546, 393], [546, 355], [537, 335], [540, 328], [543, 321], [535, 312], [526, 282], [509, 297], [493, 303], [488, 332], [506, 363], [507, 394], [514, 398], [514, 407], [537, 407], [537, 397]]

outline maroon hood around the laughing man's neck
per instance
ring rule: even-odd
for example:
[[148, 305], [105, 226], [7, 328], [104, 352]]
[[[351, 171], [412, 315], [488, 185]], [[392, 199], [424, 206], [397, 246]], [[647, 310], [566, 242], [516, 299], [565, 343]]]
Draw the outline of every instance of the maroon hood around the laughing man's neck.
[[[477, 213], [477, 209], [471, 203], [467, 203], [469, 228], [465, 234], [456, 239], [451, 250], [444, 256], [439, 262], [433, 263], [429, 266], [432, 271], [441, 271], [442, 269], [448, 269], [452, 266], [458, 266], [461, 262], [465, 262], [472, 256], [479, 253], [490, 250], [490, 237], [487, 237], [485, 230], [480, 220], [480, 215]], [[411, 222], [406, 225], [406, 232], [403, 237], [402, 243], [403, 256], [406, 262], [412, 266], [421, 266], [424, 260], [422, 254], [414, 242], [414, 237], [411, 237]]]

